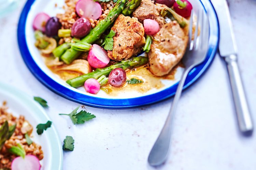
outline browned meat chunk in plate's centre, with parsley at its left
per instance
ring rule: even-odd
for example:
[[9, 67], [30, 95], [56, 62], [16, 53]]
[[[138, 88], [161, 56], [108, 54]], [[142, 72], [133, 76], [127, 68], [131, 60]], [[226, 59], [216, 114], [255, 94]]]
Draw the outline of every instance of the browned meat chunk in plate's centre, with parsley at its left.
[[136, 18], [120, 14], [111, 29], [116, 33], [113, 51], [108, 51], [112, 60], [128, 59], [138, 54], [145, 45], [144, 28]]

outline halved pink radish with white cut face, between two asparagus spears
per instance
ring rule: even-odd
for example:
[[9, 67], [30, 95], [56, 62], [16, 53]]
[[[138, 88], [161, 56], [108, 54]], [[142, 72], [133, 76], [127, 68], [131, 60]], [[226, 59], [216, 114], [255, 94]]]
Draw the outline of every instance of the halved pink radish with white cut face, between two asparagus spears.
[[110, 58], [106, 50], [94, 44], [89, 50], [87, 61], [91, 67], [102, 68], [109, 64]]

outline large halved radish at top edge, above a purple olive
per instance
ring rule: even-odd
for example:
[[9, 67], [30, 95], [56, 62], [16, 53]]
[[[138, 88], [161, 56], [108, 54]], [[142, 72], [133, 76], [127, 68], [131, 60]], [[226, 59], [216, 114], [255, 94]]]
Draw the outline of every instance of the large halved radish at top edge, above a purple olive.
[[75, 5], [75, 10], [80, 17], [94, 20], [98, 19], [102, 13], [100, 4], [94, 0], [79, 0]]

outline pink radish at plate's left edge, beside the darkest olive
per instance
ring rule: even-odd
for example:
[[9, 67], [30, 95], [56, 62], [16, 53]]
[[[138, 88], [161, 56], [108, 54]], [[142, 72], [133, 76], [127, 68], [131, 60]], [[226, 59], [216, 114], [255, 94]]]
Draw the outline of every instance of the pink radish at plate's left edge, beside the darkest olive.
[[43, 12], [37, 14], [37, 16], [35, 16], [33, 21], [33, 29], [45, 32], [45, 25], [49, 18], [50, 16]]

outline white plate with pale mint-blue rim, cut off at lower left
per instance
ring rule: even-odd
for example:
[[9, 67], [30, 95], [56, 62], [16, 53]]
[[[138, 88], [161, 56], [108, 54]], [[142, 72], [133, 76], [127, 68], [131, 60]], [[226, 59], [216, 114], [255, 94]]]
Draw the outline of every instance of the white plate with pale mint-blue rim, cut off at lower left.
[[[40, 161], [41, 170], [62, 170], [63, 152], [54, 123], [43, 134], [38, 135], [36, 126], [46, 123], [50, 118], [40, 104], [20, 90], [0, 83], [0, 103], [7, 102], [8, 112], [19, 117], [23, 115], [33, 126], [32, 140], [42, 146], [44, 158]], [[51, 121], [51, 120], [50, 120]]]

